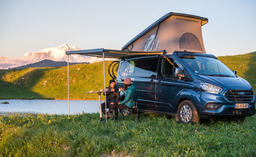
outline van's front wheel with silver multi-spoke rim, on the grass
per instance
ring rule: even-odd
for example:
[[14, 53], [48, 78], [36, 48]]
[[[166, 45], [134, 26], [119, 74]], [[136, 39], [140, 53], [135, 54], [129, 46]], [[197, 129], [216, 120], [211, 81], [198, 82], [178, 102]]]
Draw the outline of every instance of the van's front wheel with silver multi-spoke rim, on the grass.
[[199, 122], [196, 106], [190, 100], [182, 101], [177, 112], [181, 123], [194, 124]]

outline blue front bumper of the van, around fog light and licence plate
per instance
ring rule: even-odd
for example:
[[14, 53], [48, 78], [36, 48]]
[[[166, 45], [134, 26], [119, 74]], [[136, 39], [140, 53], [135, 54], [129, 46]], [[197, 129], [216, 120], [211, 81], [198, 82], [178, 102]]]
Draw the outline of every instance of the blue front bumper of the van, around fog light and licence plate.
[[[251, 102], [244, 102], [250, 104], [248, 109], [235, 109], [234, 102], [230, 102], [223, 94], [211, 94], [207, 92], [201, 93], [201, 100], [196, 105], [198, 116], [200, 118], [214, 118], [214, 117], [239, 117], [252, 116], [255, 114], [255, 96]], [[206, 110], [204, 106], [207, 103], [223, 104], [218, 110]], [[239, 102], [243, 103], [243, 102]]]

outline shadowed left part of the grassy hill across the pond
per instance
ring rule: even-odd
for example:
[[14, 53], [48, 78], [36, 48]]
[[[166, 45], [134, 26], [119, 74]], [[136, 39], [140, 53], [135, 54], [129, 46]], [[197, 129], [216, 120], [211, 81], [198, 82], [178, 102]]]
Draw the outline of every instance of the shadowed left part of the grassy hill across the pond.
[[[0, 99], [44, 99], [42, 95], [32, 91], [32, 88], [39, 84], [39, 80], [47, 70], [57, 68], [59, 67], [32, 70], [0, 70]], [[22, 70], [25, 70], [23, 75], [17, 76], [16, 71]], [[8, 80], [4, 80], [6, 77], [8, 77]]]

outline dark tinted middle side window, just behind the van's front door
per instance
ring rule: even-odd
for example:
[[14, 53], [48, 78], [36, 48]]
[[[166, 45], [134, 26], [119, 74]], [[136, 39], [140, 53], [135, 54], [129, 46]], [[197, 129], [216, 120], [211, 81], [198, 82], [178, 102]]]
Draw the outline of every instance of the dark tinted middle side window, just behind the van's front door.
[[156, 77], [156, 69], [159, 58], [137, 60], [134, 68], [134, 76]]

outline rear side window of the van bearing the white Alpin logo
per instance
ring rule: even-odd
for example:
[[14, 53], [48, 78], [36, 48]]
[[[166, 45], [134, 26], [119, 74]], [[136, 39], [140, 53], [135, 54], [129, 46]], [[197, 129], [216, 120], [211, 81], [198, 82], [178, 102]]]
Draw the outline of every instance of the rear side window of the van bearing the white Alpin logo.
[[123, 62], [120, 67], [119, 74], [122, 79], [125, 79], [128, 76], [133, 76], [134, 72], [134, 61]]

